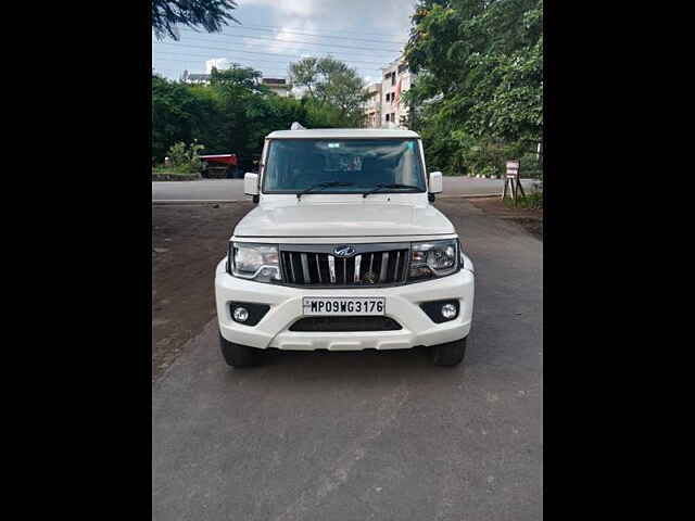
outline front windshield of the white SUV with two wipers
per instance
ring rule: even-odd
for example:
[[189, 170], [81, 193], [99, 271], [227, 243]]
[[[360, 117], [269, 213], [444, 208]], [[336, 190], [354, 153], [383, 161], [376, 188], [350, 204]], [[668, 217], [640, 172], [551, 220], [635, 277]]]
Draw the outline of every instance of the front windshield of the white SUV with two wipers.
[[[319, 183], [325, 186], [316, 187]], [[378, 185], [403, 185], [379, 193], [425, 191], [417, 140], [270, 140], [265, 193], [298, 193], [312, 187], [312, 193], [362, 193]]]

